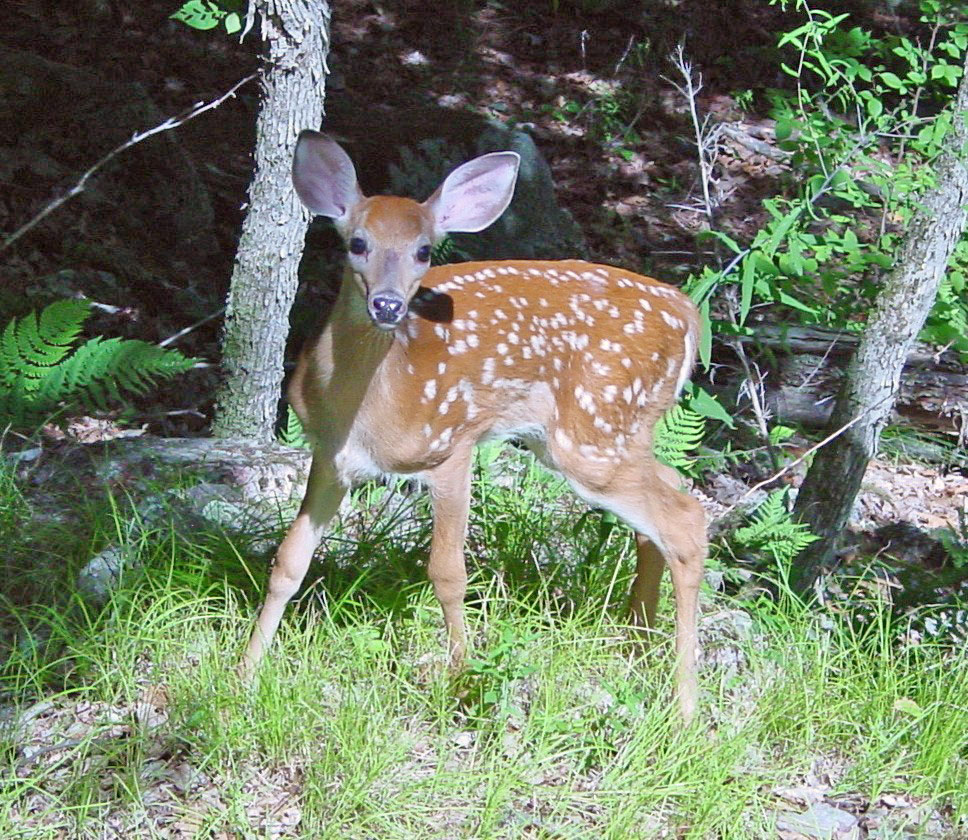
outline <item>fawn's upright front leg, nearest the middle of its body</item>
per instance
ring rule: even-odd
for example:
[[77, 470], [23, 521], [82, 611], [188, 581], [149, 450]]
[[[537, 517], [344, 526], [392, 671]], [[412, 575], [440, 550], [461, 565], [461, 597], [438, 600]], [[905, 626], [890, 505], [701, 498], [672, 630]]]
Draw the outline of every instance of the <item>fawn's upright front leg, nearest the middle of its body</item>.
[[464, 540], [471, 503], [471, 455], [473, 450], [457, 452], [447, 461], [425, 473], [430, 485], [434, 530], [430, 542], [427, 577], [444, 612], [450, 667], [464, 662], [464, 595], [467, 569], [464, 565]]

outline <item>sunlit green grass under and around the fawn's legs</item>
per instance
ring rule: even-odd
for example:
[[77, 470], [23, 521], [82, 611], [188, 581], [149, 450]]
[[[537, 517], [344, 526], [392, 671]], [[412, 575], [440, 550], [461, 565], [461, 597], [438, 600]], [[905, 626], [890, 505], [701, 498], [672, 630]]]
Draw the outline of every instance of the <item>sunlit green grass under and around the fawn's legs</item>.
[[92, 502], [42, 528], [24, 582], [30, 504], [0, 482], [0, 837], [748, 840], [775, 836], [772, 789], [812, 773], [832, 792], [968, 814], [963, 649], [899, 644], [885, 610], [859, 624], [706, 593], [705, 615], [743, 609], [752, 630], [707, 623], [700, 719], [683, 729], [668, 639], [642, 655], [622, 623], [625, 532], [580, 518], [527, 459], [493, 477], [491, 454], [456, 680], [412, 494], [357, 496], [246, 689], [234, 668], [265, 580], [246, 545], [132, 538], [142, 570], [94, 610], [70, 581], [127, 533], [123, 508]]

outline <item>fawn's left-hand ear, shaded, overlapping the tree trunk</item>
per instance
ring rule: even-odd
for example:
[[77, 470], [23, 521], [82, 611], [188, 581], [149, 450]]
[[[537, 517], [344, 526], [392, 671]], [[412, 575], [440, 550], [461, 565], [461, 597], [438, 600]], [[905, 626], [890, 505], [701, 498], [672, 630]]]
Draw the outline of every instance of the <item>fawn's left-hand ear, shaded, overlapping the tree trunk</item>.
[[350, 156], [318, 131], [300, 132], [292, 159], [292, 183], [303, 204], [337, 225], [363, 198]]

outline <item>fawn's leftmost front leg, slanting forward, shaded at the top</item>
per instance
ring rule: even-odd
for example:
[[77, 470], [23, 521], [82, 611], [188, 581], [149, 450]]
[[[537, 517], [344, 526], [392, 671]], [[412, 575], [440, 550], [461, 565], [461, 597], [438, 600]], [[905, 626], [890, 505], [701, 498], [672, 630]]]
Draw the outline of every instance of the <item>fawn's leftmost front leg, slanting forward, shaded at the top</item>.
[[251, 677], [272, 642], [286, 604], [306, 576], [313, 552], [345, 494], [346, 487], [337, 479], [332, 463], [314, 456], [299, 514], [276, 552], [269, 592], [242, 660], [244, 677]]

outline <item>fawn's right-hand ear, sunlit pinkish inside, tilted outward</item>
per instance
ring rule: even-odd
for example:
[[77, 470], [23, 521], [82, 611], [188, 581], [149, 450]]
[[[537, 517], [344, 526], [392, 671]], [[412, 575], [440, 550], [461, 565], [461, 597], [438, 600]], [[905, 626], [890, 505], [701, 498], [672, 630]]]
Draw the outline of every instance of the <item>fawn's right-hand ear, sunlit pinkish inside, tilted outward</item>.
[[520, 163], [517, 152], [491, 152], [458, 166], [424, 202], [437, 233], [477, 233], [497, 221], [511, 203]]

